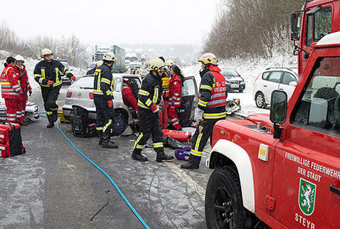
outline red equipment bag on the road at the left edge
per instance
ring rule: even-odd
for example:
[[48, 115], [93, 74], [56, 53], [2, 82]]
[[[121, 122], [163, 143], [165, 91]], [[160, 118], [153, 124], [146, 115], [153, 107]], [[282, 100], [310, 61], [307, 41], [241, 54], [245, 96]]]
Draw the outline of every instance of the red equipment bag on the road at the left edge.
[[0, 124], [0, 157], [24, 154], [20, 125], [3, 122]]

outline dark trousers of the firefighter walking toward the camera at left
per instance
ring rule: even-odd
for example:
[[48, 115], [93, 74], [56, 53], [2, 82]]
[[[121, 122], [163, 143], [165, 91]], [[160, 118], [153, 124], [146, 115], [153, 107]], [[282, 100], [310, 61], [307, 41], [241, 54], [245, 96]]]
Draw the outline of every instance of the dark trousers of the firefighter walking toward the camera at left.
[[58, 119], [58, 95], [60, 86], [57, 87], [41, 87], [41, 95], [43, 96], [43, 107], [45, 108], [48, 120], [56, 122]]

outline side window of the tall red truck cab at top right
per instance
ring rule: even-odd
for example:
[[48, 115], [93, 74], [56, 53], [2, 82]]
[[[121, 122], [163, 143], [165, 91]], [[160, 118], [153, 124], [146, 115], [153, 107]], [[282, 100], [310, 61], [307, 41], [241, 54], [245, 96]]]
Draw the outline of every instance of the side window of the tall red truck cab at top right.
[[314, 41], [331, 33], [331, 7], [320, 9], [314, 14]]

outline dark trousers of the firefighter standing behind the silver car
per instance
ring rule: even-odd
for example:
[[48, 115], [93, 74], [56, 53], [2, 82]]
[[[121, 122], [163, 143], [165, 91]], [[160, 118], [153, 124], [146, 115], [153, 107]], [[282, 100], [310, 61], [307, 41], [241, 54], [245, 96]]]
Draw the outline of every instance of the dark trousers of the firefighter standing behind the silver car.
[[97, 113], [97, 132], [110, 134], [114, 124], [114, 110], [104, 97], [95, 97], [95, 112]]

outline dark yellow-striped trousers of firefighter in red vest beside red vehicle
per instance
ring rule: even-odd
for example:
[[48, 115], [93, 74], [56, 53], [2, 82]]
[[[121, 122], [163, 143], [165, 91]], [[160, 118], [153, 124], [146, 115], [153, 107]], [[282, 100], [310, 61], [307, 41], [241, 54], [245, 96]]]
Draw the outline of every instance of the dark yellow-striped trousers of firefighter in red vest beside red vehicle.
[[[224, 118], [223, 118], [224, 119]], [[222, 119], [204, 119], [197, 127], [196, 132], [193, 134], [191, 140], [191, 152], [189, 161], [193, 160], [195, 162], [201, 161], [202, 153], [204, 147], [206, 147], [206, 142], [212, 137], [213, 126]], [[201, 132], [200, 132], [201, 127]], [[202, 128], [203, 127], [203, 128]]]

